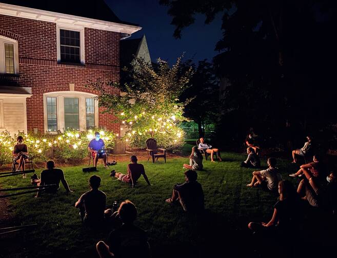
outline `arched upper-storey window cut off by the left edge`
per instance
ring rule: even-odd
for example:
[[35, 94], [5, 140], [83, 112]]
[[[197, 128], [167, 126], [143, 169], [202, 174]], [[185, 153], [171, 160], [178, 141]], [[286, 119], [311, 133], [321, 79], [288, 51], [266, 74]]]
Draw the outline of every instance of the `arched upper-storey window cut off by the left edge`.
[[3, 36], [0, 36], [0, 73], [18, 73], [17, 41]]

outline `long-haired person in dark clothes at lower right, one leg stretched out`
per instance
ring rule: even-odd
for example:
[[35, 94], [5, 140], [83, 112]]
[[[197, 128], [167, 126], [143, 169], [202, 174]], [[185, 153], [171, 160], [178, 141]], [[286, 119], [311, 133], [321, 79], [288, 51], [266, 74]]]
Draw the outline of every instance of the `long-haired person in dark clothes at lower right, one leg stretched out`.
[[280, 199], [274, 205], [271, 220], [267, 223], [250, 222], [248, 228], [254, 232], [276, 228], [295, 231], [300, 228], [304, 210], [296, 190], [290, 181], [280, 181], [277, 185]]

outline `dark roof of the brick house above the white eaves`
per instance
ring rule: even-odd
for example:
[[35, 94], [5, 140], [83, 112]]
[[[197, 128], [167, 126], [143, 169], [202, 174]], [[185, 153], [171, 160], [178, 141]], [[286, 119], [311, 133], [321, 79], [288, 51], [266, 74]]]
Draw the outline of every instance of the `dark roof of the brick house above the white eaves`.
[[104, 0], [0, 0], [0, 3], [137, 26], [121, 21]]

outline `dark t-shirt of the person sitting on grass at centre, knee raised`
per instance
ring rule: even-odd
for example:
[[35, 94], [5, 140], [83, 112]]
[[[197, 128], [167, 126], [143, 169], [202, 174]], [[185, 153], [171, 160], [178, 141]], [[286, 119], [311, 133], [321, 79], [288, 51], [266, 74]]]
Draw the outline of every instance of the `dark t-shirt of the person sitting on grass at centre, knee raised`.
[[185, 204], [186, 211], [197, 211], [204, 209], [204, 192], [199, 182], [187, 182], [176, 184], [174, 190], [179, 191], [180, 197]]

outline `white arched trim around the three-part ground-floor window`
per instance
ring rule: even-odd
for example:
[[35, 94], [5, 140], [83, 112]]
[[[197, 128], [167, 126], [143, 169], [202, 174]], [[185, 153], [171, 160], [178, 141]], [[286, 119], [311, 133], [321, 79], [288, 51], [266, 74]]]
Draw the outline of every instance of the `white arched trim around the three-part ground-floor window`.
[[[64, 98], [65, 97], [77, 97], [79, 98], [79, 116], [80, 116], [80, 131], [86, 130], [86, 98], [93, 98], [97, 95], [79, 92], [79, 91], [58, 91], [58, 92], [49, 92], [45, 93], [43, 96], [43, 106], [44, 106], [44, 126], [45, 131], [48, 131], [47, 125], [47, 97], [56, 97], [56, 112], [57, 112], [57, 130], [63, 131], [65, 126], [64, 121]], [[98, 127], [98, 101], [94, 101], [94, 114], [95, 114], [95, 127]], [[50, 132], [57, 133], [57, 132]]]

